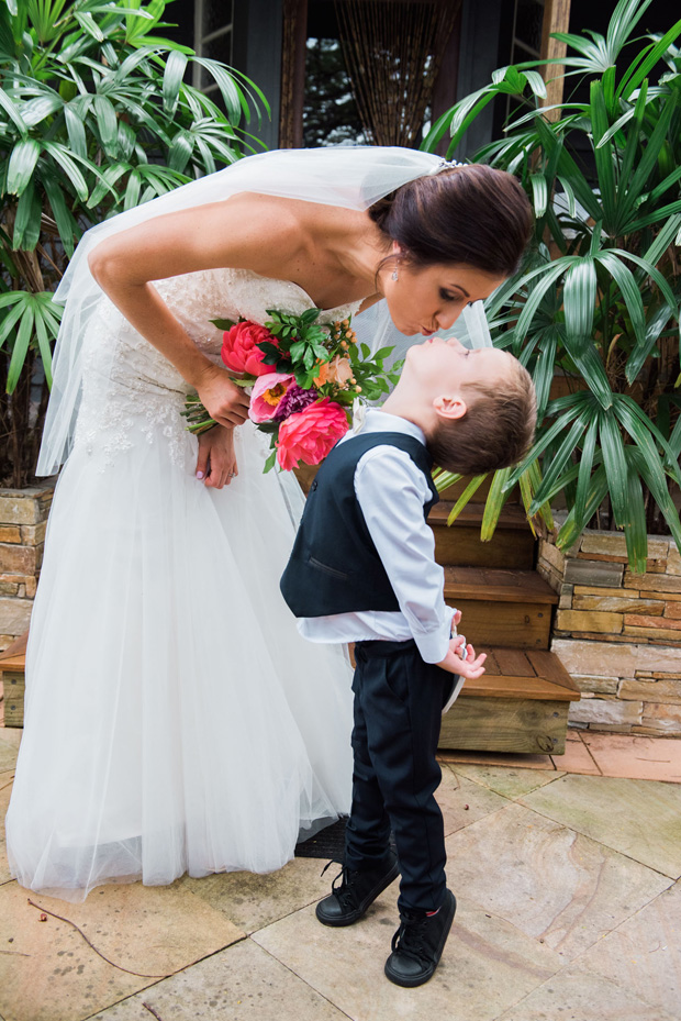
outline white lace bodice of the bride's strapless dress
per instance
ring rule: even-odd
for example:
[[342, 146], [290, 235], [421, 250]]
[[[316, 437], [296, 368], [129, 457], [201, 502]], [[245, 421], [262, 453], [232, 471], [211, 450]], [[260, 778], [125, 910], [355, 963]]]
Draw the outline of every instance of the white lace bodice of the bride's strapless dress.
[[[265, 323], [268, 309], [300, 315], [314, 303], [289, 280], [273, 280], [246, 269], [208, 269], [158, 280], [159, 295], [189, 336], [220, 364], [222, 332], [213, 319], [250, 319]], [[324, 310], [320, 322], [355, 314], [360, 302]], [[102, 467], [118, 451], [143, 437], [153, 443], [160, 431], [174, 460], [187, 441], [181, 415], [191, 388], [175, 366], [148, 343], [112, 302], [102, 297], [83, 348], [83, 396], [76, 447], [98, 454]]]

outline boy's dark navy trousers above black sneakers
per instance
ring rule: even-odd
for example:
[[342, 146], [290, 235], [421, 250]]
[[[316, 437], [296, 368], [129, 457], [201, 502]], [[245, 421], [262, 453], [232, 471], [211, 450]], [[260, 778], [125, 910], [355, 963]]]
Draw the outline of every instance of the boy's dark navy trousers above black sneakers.
[[435, 754], [451, 675], [424, 663], [416, 643], [358, 642], [353, 680], [353, 807], [348, 868], [380, 867], [390, 831], [402, 879], [400, 910], [435, 911], [445, 897], [445, 834], [435, 800]]

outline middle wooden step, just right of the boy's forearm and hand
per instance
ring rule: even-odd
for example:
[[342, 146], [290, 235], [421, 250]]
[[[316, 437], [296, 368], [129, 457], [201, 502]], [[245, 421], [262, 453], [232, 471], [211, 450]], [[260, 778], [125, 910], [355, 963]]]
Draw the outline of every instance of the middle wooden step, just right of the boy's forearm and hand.
[[445, 567], [445, 601], [461, 611], [459, 630], [480, 652], [549, 646], [558, 596], [534, 570]]

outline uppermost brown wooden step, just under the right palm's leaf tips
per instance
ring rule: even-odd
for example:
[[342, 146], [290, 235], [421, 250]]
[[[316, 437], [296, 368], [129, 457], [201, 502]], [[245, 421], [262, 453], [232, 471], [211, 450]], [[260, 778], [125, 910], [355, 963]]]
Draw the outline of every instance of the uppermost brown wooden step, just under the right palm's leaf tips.
[[460, 567], [500, 567], [531, 570], [535, 562], [535, 537], [522, 507], [507, 503], [489, 542], [480, 540], [484, 503], [469, 503], [451, 525], [447, 519], [454, 502], [440, 500], [428, 517], [435, 535], [438, 564]]

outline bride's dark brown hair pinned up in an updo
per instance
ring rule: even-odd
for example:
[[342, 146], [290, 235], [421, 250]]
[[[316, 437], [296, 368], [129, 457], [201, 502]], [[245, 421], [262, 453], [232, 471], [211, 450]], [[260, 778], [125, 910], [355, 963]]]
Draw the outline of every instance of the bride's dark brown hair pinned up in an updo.
[[517, 180], [481, 163], [418, 177], [368, 212], [416, 268], [467, 263], [501, 277], [517, 271], [533, 224]]

